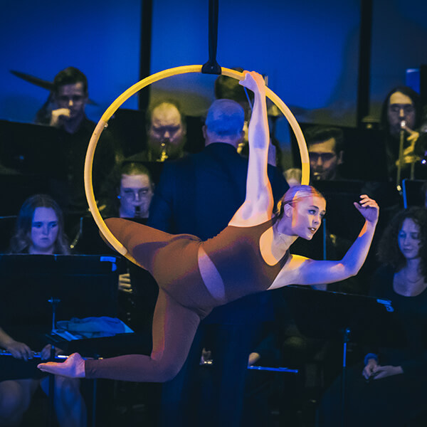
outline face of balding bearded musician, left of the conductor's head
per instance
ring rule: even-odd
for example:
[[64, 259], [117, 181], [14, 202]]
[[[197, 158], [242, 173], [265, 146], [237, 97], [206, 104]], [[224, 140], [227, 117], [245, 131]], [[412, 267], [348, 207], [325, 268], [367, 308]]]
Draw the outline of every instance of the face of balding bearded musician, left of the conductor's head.
[[163, 102], [154, 108], [148, 132], [148, 144], [157, 157], [160, 157], [162, 149], [166, 150], [168, 157], [172, 159], [178, 157], [184, 135], [181, 114], [174, 105]]

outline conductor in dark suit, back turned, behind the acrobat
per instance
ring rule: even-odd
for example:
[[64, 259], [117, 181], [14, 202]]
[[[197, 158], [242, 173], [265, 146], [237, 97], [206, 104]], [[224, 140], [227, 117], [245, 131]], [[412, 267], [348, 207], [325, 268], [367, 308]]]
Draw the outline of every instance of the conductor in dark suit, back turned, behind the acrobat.
[[[202, 240], [227, 226], [246, 196], [248, 159], [237, 153], [244, 120], [237, 102], [216, 100], [211, 105], [203, 128], [204, 150], [164, 164], [149, 226]], [[288, 184], [273, 167], [269, 177], [278, 199]], [[214, 309], [201, 322], [186, 364], [163, 386], [163, 426], [240, 425], [248, 355], [260, 323], [273, 317], [269, 302], [270, 292], [251, 295]], [[200, 367], [206, 343], [214, 363]], [[204, 387], [198, 389], [202, 377]]]

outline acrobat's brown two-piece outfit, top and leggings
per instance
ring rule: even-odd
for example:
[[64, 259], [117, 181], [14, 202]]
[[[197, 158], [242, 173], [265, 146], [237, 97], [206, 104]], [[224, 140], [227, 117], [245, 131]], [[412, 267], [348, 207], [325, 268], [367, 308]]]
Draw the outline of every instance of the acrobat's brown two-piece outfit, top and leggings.
[[[202, 318], [216, 306], [270, 288], [289, 252], [275, 265], [265, 263], [260, 236], [274, 219], [258, 226], [226, 227], [202, 242], [189, 234], [172, 235], [119, 218], [107, 226], [159, 285], [153, 318], [151, 357], [141, 354], [86, 361], [87, 378], [167, 381], [181, 369]], [[225, 298], [216, 300], [204, 285], [198, 254], [202, 246], [221, 275]]]

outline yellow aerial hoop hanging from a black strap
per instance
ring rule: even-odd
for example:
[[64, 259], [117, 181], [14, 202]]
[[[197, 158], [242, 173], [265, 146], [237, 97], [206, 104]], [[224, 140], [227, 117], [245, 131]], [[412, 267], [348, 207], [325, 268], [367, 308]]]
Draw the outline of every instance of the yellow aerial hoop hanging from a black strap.
[[[95, 195], [93, 194], [93, 183], [92, 183], [92, 166], [93, 166], [93, 157], [95, 156], [95, 149], [98, 140], [100, 139], [100, 135], [102, 131], [107, 127], [107, 122], [110, 120], [111, 116], [118, 110], [118, 108], [129, 99], [132, 95], [135, 95], [139, 90], [145, 88], [152, 83], [156, 83], [159, 80], [162, 80], [167, 77], [172, 77], [172, 75], [180, 75], [187, 73], [201, 73], [202, 65], [184, 65], [182, 67], [169, 68], [168, 70], [160, 71], [159, 73], [155, 73], [153, 75], [149, 75], [149, 77], [144, 78], [143, 80], [135, 83], [135, 85], [131, 86], [127, 89], [122, 95], [117, 97], [117, 99], [112, 102], [110, 107], [107, 108], [105, 113], [100, 118], [100, 121], [97, 122], [97, 126], [93, 131], [93, 135], [90, 138], [90, 142], [88, 145], [88, 151], [86, 152], [85, 158], [85, 193], [86, 199], [88, 199], [90, 214], [92, 214], [93, 219], [97, 227], [100, 229], [102, 236], [110, 243], [110, 245], [115, 248], [115, 250], [124, 255], [128, 260], [132, 261], [138, 265], [137, 261], [132, 258], [132, 256], [127, 253], [127, 249], [125, 246], [120, 243], [120, 241], [115, 238], [115, 236], [111, 233], [111, 231], [107, 228], [102, 216], [100, 214], [99, 209], [97, 208], [97, 204], [95, 201]], [[243, 80], [244, 75], [236, 70], [231, 70], [230, 68], [221, 67], [221, 73], [231, 78], [235, 78], [236, 80]], [[269, 88], [265, 88], [265, 95], [277, 105], [279, 110], [283, 113], [283, 115], [288, 120], [290, 127], [292, 127], [293, 132], [295, 133], [295, 137], [297, 138], [298, 147], [300, 149], [301, 156], [301, 165], [302, 165], [302, 180], [301, 184], [309, 184], [310, 181], [310, 160], [307, 152], [307, 145], [305, 144], [304, 136], [302, 135], [300, 125], [298, 125], [297, 120], [295, 119], [292, 112], [290, 112], [289, 108], [285, 105], [285, 103], [273, 93]]]

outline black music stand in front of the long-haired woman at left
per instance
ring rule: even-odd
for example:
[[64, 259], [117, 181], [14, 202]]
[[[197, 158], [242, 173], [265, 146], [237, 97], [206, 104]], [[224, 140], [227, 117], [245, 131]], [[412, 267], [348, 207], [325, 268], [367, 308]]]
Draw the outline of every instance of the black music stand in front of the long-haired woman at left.
[[[117, 257], [112, 255], [0, 255], [0, 325], [33, 348], [46, 340], [58, 347], [48, 334], [52, 329], [48, 300], [60, 300], [57, 320], [115, 317], [118, 273]], [[34, 367], [36, 362], [31, 364]]]

